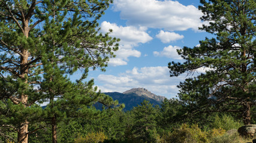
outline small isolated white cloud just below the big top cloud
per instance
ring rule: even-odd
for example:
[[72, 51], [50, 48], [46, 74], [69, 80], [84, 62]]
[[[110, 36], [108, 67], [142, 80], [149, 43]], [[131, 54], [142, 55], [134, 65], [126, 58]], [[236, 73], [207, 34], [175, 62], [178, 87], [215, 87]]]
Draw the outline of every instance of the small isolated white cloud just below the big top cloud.
[[164, 32], [163, 30], [161, 30], [158, 33], [158, 35], [156, 35], [156, 38], [160, 39], [161, 42], [163, 43], [169, 43], [171, 41], [177, 41], [177, 40], [183, 39], [184, 36], [174, 32]]

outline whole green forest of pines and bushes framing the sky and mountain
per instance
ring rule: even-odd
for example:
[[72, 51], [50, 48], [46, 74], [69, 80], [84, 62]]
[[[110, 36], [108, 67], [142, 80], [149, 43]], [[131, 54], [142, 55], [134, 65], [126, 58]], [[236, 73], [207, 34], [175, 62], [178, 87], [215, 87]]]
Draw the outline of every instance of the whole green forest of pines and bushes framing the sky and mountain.
[[[177, 98], [129, 111], [94, 87], [120, 39], [100, 33], [112, 0], [0, 0], [0, 142], [251, 142], [256, 130], [255, 0], [201, 0], [213, 38], [177, 50]], [[75, 82], [69, 75], [82, 75]], [[170, 80], [171, 80], [170, 77]], [[48, 103], [46, 107], [40, 104]], [[97, 110], [95, 104], [101, 104]]]

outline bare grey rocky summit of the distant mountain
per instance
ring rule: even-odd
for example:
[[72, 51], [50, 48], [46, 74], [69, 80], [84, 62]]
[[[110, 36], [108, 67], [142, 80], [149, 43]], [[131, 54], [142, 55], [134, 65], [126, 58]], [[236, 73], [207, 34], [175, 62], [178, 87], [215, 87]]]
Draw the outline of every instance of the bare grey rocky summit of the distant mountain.
[[165, 97], [152, 94], [146, 88], [132, 88], [132, 89], [129, 89], [128, 91], [123, 92], [123, 94], [137, 94], [138, 96], [151, 98], [153, 100], [160, 101], [160, 102], [164, 101], [165, 99]]

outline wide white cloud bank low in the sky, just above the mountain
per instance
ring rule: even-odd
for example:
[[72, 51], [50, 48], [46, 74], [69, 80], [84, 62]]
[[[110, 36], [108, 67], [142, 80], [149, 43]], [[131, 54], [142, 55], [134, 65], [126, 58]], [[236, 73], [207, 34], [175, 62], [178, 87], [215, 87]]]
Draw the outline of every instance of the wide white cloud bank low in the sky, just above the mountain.
[[170, 77], [168, 67], [134, 67], [119, 76], [100, 74], [95, 81], [102, 92], [124, 92], [131, 88], [146, 88], [156, 95], [173, 98], [179, 89], [176, 87], [185, 76]]

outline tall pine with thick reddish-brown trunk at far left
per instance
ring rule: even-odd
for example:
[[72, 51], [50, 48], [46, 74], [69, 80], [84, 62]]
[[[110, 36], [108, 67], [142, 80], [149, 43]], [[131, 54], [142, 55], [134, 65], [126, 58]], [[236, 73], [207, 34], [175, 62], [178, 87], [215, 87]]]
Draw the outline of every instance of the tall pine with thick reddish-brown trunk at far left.
[[18, 142], [28, 142], [28, 135], [38, 130], [28, 130], [29, 124], [41, 120], [35, 103], [49, 99], [40, 91], [44, 66], [54, 63], [52, 70], [61, 74], [88, 67], [104, 70], [113, 57], [119, 40], [98, 33], [97, 23], [110, 2], [0, 0], [0, 96], [6, 103], [2, 110], [10, 115], [4, 123], [17, 130]]

